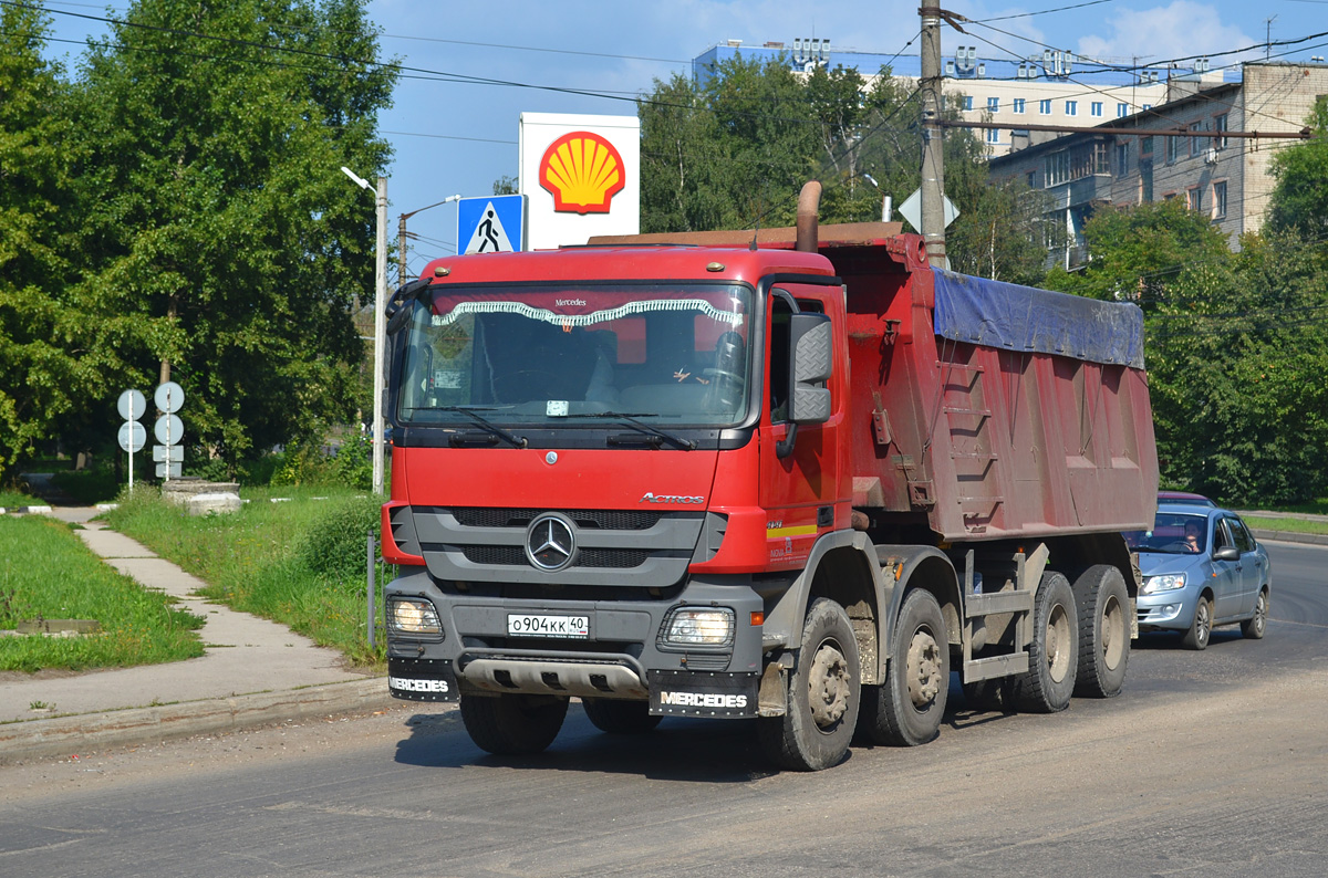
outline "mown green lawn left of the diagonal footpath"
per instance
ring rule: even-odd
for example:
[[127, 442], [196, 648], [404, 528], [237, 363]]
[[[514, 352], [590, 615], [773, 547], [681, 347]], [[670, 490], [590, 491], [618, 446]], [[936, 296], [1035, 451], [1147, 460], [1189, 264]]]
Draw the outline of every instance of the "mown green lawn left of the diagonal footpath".
[[23, 619], [96, 619], [100, 634], [0, 637], [0, 671], [84, 670], [203, 654], [203, 619], [93, 554], [69, 525], [0, 516], [0, 629]]

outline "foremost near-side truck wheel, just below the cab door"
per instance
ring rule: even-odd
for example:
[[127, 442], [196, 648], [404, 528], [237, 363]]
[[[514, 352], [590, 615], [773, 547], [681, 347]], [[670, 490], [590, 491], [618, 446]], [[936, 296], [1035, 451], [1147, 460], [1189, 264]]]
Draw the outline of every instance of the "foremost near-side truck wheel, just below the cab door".
[[834, 601], [817, 598], [802, 623], [798, 667], [789, 674], [789, 707], [784, 716], [757, 723], [761, 748], [784, 768], [830, 768], [849, 752], [861, 699], [858, 641], [849, 614]]

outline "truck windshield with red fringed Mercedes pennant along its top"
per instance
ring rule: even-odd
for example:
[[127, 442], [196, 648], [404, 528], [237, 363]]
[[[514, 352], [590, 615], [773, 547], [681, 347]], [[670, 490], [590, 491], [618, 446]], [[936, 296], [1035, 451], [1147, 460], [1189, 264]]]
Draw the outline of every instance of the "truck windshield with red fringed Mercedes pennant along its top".
[[397, 419], [733, 424], [752, 383], [750, 305], [728, 285], [436, 289], [406, 333]]

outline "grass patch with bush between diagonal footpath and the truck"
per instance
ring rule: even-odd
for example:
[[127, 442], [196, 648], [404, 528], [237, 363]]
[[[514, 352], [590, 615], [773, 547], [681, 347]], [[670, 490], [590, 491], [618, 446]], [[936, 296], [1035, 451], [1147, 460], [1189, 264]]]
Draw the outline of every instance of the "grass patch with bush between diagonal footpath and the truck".
[[356, 666], [378, 667], [382, 638], [369, 650], [365, 635], [365, 544], [371, 528], [377, 536], [381, 499], [365, 493], [244, 488], [250, 503], [239, 512], [189, 516], [145, 491], [121, 499], [105, 519], [206, 581], [208, 598], [288, 625]]

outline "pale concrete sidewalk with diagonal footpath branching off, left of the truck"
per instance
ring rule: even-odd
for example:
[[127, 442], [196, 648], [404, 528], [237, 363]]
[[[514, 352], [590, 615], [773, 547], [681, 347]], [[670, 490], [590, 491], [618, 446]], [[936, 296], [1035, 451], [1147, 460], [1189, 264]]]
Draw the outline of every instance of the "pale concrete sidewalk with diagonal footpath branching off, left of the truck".
[[201, 580], [89, 521], [96, 509], [56, 507], [50, 515], [84, 524], [78, 536], [108, 564], [205, 617], [207, 653], [72, 676], [0, 674], [0, 763], [393, 703], [386, 680], [345, 668], [336, 650], [197, 597]]

